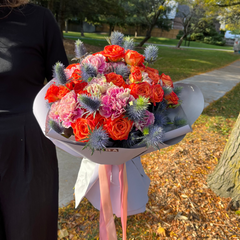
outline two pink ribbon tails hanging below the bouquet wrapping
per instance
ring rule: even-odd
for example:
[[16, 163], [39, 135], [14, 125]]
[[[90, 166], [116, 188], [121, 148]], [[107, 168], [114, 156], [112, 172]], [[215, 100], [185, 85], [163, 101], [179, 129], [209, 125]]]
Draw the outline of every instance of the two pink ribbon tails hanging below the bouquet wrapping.
[[[127, 170], [126, 164], [119, 167], [119, 183], [120, 183], [120, 202], [121, 202], [121, 222], [123, 240], [126, 240], [127, 231]], [[99, 185], [100, 185], [100, 224], [99, 235], [100, 240], [117, 240], [116, 227], [113, 219], [112, 203], [110, 197], [110, 177], [112, 165], [99, 166]]]

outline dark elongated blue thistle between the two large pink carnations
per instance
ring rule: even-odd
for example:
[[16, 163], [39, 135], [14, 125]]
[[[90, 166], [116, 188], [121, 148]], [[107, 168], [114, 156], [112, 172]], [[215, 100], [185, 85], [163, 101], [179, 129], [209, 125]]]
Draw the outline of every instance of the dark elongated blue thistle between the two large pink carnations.
[[82, 108], [86, 109], [89, 113], [94, 113], [97, 111], [101, 105], [101, 102], [96, 97], [89, 97], [86, 94], [81, 94], [78, 96], [78, 101]]

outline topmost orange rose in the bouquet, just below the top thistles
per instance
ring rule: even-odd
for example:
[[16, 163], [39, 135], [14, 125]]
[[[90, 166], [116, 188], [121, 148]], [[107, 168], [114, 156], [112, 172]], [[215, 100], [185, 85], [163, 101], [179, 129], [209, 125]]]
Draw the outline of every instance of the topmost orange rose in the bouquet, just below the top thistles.
[[119, 62], [124, 56], [124, 48], [118, 45], [108, 45], [104, 48], [103, 55], [111, 62]]

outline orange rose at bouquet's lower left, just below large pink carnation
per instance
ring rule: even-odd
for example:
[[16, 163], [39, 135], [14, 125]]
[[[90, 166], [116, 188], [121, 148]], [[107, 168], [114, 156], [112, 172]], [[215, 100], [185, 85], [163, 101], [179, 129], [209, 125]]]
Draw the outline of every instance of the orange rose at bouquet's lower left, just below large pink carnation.
[[95, 124], [92, 120], [85, 118], [78, 118], [75, 123], [71, 123], [75, 139], [78, 142], [87, 142], [88, 140], [83, 140], [89, 135], [89, 128], [93, 131]]

